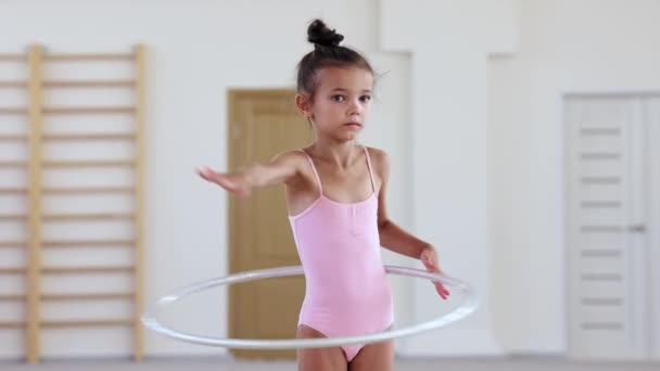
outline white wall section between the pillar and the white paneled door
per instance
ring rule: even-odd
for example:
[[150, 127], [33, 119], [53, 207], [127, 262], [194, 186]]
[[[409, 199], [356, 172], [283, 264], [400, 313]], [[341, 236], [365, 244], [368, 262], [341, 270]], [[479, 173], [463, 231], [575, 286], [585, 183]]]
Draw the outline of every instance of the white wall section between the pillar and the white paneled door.
[[660, 91], [660, 2], [522, 1], [521, 15], [518, 53], [490, 68], [492, 266], [506, 298], [493, 318], [509, 351], [563, 353], [562, 94]]

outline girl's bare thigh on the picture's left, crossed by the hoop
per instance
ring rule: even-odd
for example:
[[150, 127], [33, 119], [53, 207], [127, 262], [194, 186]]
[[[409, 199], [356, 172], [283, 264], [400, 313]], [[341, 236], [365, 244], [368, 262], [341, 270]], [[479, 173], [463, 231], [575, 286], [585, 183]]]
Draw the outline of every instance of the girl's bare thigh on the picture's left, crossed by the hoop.
[[[297, 328], [299, 338], [327, 337], [310, 327], [301, 324]], [[346, 357], [341, 348], [297, 349], [299, 371], [347, 371]]]

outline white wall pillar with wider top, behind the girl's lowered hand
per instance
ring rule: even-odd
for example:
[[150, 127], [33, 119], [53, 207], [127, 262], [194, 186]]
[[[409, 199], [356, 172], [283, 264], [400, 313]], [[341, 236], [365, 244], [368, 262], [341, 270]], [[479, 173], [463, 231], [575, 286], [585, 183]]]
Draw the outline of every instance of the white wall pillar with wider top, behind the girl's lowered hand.
[[[382, 1], [381, 44], [409, 51], [414, 230], [437, 248], [448, 274], [471, 283], [481, 307], [442, 331], [411, 337], [414, 355], [497, 355], [491, 331], [486, 179], [486, 55], [517, 47], [515, 1]], [[440, 298], [414, 282], [414, 318]], [[496, 319], [497, 320], [497, 319]]]

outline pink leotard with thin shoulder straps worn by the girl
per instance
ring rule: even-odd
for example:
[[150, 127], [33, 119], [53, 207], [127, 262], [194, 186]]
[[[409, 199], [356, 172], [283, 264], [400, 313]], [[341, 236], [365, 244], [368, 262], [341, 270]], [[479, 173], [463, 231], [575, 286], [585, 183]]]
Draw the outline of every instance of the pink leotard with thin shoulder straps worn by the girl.
[[[306, 281], [299, 324], [328, 337], [372, 334], [394, 321], [392, 293], [380, 255], [378, 197], [366, 148], [365, 154], [373, 192], [361, 202], [340, 203], [323, 195], [314, 162], [305, 153], [319, 197], [289, 217]], [[343, 346], [346, 360], [363, 346]]]

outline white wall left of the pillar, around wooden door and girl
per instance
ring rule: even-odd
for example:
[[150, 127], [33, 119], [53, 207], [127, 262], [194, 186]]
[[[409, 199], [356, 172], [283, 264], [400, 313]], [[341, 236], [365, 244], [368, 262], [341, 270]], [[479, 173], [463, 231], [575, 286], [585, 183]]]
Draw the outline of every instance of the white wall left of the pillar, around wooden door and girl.
[[[388, 150], [393, 158], [391, 214], [409, 226], [406, 183], [406, 54], [377, 50], [376, 1], [3, 1], [0, 3], [0, 52], [23, 52], [39, 42], [53, 52], [127, 51], [148, 47], [147, 139], [147, 300], [174, 287], [226, 273], [225, 194], [199, 180], [202, 165], [224, 168], [228, 88], [292, 87], [295, 64], [310, 50], [308, 22], [317, 16], [346, 36], [345, 43], [365, 52], [384, 76], [377, 88], [372, 127], [364, 141]], [[288, 20], [288, 21], [282, 21]], [[389, 263], [401, 258], [385, 254]], [[408, 291], [394, 282], [397, 316], [405, 319]], [[166, 318], [179, 329], [226, 335], [223, 295], [202, 295]], [[130, 349], [128, 332], [82, 331], [76, 349], [66, 337], [49, 332], [45, 356], [120, 355]], [[22, 354], [21, 331], [0, 330], [1, 357]], [[10, 334], [11, 333], [11, 334]], [[110, 341], [107, 341], [110, 340]], [[107, 347], [107, 343], [125, 346]], [[105, 345], [104, 345], [105, 343]], [[91, 350], [90, 350], [91, 349]], [[218, 354], [151, 332], [148, 355]]]

